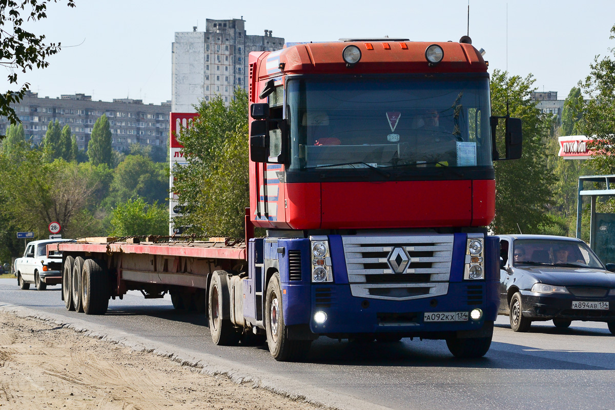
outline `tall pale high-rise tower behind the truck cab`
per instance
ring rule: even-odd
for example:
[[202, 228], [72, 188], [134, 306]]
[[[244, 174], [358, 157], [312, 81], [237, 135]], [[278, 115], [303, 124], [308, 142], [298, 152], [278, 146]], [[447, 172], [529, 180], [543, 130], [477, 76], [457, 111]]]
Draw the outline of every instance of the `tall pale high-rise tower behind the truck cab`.
[[248, 36], [243, 18], [207, 19], [205, 31], [175, 33], [172, 47], [172, 110], [194, 112], [193, 105], [221, 95], [228, 103], [235, 87], [247, 90], [248, 54], [284, 47], [284, 38]]

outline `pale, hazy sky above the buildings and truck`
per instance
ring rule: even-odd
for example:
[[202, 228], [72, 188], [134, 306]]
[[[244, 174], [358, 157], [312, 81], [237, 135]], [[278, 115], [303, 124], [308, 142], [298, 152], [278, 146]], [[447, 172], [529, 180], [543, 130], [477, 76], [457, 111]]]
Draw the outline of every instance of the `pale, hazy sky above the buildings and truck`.
[[[258, 2], [244, 0], [76, 4], [69, 9], [59, 0], [49, 6], [47, 20], [28, 26], [63, 46], [49, 58], [48, 68], [18, 75], [20, 84], [30, 82], [39, 97], [85, 93], [103, 101], [170, 100], [174, 33], [192, 31], [192, 26], [203, 31], [207, 18], [243, 16], [247, 34], [267, 29], [288, 42], [383, 36], [458, 41], [467, 32], [468, 6], [467, 0], [311, 0], [264, 2], [270, 6], [258, 8]], [[587, 76], [596, 55], [615, 47], [609, 40], [614, 24], [613, 0], [470, 0], [469, 34], [477, 49], [486, 50], [490, 72], [508, 67], [511, 74], [531, 73], [540, 91], [557, 91], [560, 98]]]

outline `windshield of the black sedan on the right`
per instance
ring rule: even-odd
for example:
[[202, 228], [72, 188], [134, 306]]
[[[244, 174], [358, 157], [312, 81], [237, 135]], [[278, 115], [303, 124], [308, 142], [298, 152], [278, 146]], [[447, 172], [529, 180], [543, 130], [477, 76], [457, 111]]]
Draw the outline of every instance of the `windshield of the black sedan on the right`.
[[605, 269], [585, 242], [559, 239], [517, 239], [513, 265], [554, 265]]

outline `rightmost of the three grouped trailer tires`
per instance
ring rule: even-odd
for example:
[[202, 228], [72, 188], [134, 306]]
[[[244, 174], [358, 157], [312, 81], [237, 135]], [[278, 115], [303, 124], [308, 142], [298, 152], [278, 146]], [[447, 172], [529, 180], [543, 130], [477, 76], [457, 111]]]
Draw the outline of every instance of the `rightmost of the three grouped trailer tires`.
[[104, 315], [109, 307], [109, 274], [100, 259], [87, 259], [84, 263], [81, 303], [86, 315]]

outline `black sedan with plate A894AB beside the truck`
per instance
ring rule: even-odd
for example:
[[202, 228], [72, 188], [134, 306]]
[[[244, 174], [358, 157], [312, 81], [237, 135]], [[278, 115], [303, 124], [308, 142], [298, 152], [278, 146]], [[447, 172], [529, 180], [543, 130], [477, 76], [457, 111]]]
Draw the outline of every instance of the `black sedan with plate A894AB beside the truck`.
[[615, 334], [615, 264], [606, 264], [579, 239], [499, 235], [499, 314], [515, 332], [532, 321], [603, 321]]

